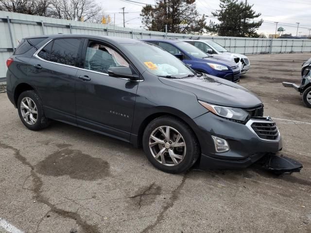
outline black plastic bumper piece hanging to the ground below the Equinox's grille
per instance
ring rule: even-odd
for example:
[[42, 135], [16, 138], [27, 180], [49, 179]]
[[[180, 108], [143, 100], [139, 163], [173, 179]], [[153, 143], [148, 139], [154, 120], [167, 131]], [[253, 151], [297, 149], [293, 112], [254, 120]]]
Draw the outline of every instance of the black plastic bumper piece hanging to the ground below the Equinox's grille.
[[303, 168], [302, 164], [298, 161], [273, 153], [262, 157], [258, 161], [258, 165], [260, 165], [265, 170], [275, 173], [276, 175], [300, 172], [301, 168]]

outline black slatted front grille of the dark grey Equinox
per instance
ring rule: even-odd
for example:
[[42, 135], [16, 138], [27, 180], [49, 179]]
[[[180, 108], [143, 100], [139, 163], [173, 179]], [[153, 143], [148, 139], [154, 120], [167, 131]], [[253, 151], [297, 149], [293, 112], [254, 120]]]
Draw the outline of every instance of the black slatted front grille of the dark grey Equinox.
[[255, 133], [262, 139], [276, 140], [278, 137], [278, 130], [274, 121], [269, 122], [253, 122], [251, 125]]

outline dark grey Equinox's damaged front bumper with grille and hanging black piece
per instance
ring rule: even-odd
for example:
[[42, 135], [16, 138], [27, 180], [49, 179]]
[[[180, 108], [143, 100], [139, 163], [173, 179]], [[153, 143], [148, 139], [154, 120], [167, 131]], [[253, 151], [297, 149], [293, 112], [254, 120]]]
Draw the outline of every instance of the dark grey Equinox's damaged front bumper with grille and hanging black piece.
[[[254, 163], [279, 174], [302, 168], [300, 163], [279, 155], [282, 138], [269, 116], [252, 117], [242, 124], [207, 113], [194, 121], [200, 127], [196, 132], [202, 151], [196, 165], [200, 170], [246, 168]], [[225, 139], [230, 150], [216, 152], [213, 140], [209, 140], [212, 135]]]

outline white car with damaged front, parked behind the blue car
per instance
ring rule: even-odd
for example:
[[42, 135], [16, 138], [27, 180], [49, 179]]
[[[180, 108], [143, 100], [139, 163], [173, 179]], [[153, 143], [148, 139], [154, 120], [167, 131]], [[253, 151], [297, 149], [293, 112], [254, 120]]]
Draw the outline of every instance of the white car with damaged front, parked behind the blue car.
[[211, 54], [212, 56], [220, 59], [226, 59], [239, 64], [241, 74], [245, 74], [249, 71], [251, 64], [247, 56], [238, 53], [232, 53], [226, 50], [221, 45], [211, 40], [197, 40], [197, 39], [183, 39], [183, 41], [194, 45], [198, 49]]

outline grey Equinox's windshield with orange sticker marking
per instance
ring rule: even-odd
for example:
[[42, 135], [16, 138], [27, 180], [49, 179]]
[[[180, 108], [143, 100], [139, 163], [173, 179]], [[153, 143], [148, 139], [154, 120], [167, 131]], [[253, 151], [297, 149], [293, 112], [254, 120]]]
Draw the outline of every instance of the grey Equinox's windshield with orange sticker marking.
[[156, 76], [173, 76], [184, 78], [195, 73], [178, 58], [156, 45], [124, 44], [141, 64], [148, 68], [148, 71]]

